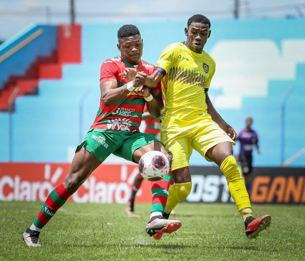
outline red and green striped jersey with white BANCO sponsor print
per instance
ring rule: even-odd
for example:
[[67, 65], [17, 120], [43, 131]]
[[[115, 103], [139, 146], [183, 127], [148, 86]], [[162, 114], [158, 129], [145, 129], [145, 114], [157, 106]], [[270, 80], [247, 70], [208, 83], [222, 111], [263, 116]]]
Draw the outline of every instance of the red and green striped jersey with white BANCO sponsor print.
[[[133, 64], [123, 60], [120, 56], [106, 59], [101, 66], [100, 83], [106, 81], [116, 81], [117, 87], [120, 88], [129, 80], [124, 80], [120, 73], [126, 68], [133, 68]], [[148, 75], [153, 74], [155, 70], [154, 64], [141, 60], [139, 64], [141, 71]], [[160, 93], [161, 84], [153, 89], [154, 93]], [[123, 100], [115, 105], [106, 106], [102, 99], [100, 100], [100, 108], [95, 118], [94, 124], [90, 129], [111, 129], [114, 131], [139, 131], [142, 120], [142, 114], [145, 106], [145, 100], [142, 96], [131, 92], [124, 97]]]

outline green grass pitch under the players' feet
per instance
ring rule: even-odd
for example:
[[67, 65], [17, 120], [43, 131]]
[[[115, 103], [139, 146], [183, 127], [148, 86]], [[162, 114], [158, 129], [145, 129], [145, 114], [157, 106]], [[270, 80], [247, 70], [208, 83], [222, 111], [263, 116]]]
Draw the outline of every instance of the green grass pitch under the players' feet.
[[180, 203], [180, 229], [155, 240], [145, 233], [149, 204], [66, 203], [43, 229], [42, 247], [29, 248], [22, 233], [42, 203], [0, 202], [0, 260], [305, 260], [305, 207], [254, 205], [272, 224], [257, 240], [247, 239], [234, 204]]

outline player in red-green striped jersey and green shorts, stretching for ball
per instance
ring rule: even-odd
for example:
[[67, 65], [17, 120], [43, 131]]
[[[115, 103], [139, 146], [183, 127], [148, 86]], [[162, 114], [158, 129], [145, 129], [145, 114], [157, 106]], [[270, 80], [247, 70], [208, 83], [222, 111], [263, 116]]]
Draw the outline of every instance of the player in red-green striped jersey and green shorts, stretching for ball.
[[[141, 60], [143, 41], [140, 32], [135, 25], [123, 25], [117, 31], [117, 38], [120, 55], [106, 59], [101, 66], [101, 100], [96, 119], [77, 147], [64, 182], [50, 192], [33, 224], [24, 231], [23, 240], [27, 246], [41, 246], [39, 235], [43, 227], [111, 153], [138, 163], [144, 153], [158, 150], [170, 162], [172, 160], [171, 154], [154, 135], [139, 132], [145, 104], [154, 117], [160, 117], [164, 109], [161, 85], [151, 89], [144, 85], [155, 66]], [[132, 81], [123, 79], [120, 74], [135, 65], [141, 72]], [[167, 188], [159, 189], [166, 198], [168, 186], [169, 182]], [[161, 204], [152, 208], [145, 228], [145, 232], [156, 239], [181, 226], [178, 220], [162, 218], [164, 208]]]

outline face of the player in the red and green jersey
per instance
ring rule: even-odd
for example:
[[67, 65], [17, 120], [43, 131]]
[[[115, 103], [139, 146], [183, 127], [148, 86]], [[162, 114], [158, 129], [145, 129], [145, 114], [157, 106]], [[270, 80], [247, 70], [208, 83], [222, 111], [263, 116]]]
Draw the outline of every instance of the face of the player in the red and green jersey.
[[124, 60], [135, 65], [140, 63], [143, 53], [143, 41], [140, 35], [120, 39], [117, 48]]

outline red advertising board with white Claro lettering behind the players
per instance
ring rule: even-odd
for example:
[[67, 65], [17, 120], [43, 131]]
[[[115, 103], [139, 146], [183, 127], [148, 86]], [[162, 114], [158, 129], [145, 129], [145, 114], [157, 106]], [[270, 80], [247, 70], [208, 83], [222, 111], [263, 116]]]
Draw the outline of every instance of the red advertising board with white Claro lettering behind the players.
[[[52, 164], [8, 164], [7, 171], [0, 168], [0, 201], [44, 201], [54, 187], [63, 182], [69, 167]], [[14, 168], [16, 169], [12, 170]], [[25, 168], [29, 174], [20, 171]], [[69, 200], [77, 203], [125, 204], [130, 197], [131, 184], [138, 171], [137, 165], [101, 166]], [[150, 192], [150, 183], [143, 183], [146, 184], [139, 189], [137, 196], [142, 201], [149, 201], [151, 195], [147, 193], [147, 197], [145, 195], [143, 199], [143, 189]]]

